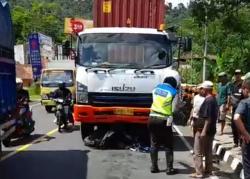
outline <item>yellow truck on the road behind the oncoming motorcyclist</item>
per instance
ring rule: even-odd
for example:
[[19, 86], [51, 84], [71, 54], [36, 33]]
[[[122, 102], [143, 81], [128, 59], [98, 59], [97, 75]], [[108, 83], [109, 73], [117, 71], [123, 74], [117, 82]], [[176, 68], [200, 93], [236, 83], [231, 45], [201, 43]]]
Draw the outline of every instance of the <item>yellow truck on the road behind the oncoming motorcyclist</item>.
[[51, 112], [55, 107], [55, 102], [50, 99], [49, 94], [58, 89], [60, 82], [65, 82], [66, 87], [75, 96], [75, 69], [74, 67], [57, 67], [42, 70], [40, 88], [41, 104], [47, 112]]

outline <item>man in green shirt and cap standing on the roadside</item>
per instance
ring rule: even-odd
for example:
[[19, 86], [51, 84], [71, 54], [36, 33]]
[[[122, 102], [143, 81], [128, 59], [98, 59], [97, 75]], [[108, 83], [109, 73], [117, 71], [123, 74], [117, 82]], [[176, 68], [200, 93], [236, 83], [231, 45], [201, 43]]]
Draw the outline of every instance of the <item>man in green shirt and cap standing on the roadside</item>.
[[219, 84], [217, 101], [219, 104], [219, 122], [221, 123], [220, 134], [223, 135], [226, 124], [226, 114], [229, 106], [228, 101], [230, 97], [230, 86], [225, 72], [219, 73], [218, 77]]

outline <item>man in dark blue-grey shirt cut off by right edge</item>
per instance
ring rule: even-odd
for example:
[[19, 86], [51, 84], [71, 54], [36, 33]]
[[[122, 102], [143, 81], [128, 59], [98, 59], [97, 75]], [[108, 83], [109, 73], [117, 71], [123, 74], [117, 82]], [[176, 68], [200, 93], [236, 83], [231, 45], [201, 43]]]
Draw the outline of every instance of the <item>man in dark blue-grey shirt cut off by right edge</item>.
[[250, 179], [250, 79], [244, 80], [242, 90], [245, 99], [241, 100], [235, 111], [234, 122], [243, 140], [244, 177]]

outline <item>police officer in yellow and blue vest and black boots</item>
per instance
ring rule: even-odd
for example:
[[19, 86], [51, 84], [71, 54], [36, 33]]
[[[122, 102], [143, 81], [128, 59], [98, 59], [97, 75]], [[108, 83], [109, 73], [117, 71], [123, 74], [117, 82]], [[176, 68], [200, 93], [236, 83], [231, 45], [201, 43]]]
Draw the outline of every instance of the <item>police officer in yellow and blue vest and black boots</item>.
[[148, 129], [151, 140], [151, 173], [158, 173], [158, 150], [164, 146], [167, 164], [167, 175], [173, 175], [173, 104], [177, 97], [177, 80], [167, 77], [162, 84], [153, 90], [153, 104], [151, 106]]

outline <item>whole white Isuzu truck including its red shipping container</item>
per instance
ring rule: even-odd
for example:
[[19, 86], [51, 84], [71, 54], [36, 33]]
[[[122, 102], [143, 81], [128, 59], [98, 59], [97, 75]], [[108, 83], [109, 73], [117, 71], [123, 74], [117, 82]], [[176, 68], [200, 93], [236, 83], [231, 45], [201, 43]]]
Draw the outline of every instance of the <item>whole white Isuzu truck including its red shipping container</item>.
[[74, 119], [95, 125], [148, 121], [152, 90], [173, 68], [176, 40], [163, 31], [164, 0], [95, 0], [94, 25], [79, 34]]

